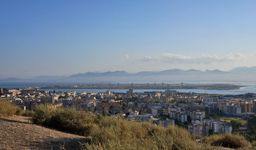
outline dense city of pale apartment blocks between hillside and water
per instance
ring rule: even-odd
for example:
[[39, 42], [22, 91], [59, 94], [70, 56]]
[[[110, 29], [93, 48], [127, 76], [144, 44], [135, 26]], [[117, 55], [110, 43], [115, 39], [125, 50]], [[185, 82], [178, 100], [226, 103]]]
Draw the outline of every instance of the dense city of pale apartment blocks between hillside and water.
[[[232, 118], [243, 120], [256, 112], [256, 95], [212, 95], [165, 92], [104, 93], [50, 92], [37, 88], [1, 89], [0, 97], [14, 102], [23, 110], [38, 105], [72, 108], [106, 116], [124, 117], [130, 121], [147, 121], [161, 126], [187, 128], [196, 137], [246, 131], [246, 126], [232, 126]], [[227, 119], [229, 118], [229, 119]], [[230, 119], [231, 118], [231, 119]], [[228, 121], [229, 120], [229, 121]]]

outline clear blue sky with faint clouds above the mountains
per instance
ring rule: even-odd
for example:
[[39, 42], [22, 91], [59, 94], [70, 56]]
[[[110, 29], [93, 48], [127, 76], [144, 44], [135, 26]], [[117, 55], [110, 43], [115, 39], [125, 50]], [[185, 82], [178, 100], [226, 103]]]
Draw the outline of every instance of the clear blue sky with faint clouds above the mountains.
[[0, 79], [256, 66], [256, 1], [0, 0]]

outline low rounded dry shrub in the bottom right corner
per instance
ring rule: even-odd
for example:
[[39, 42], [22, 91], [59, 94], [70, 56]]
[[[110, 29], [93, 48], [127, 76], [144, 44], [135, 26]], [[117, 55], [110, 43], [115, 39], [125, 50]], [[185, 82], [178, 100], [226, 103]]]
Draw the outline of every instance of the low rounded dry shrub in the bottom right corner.
[[229, 148], [250, 148], [251, 144], [243, 136], [233, 134], [211, 135], [203, 139], [204, 143]]

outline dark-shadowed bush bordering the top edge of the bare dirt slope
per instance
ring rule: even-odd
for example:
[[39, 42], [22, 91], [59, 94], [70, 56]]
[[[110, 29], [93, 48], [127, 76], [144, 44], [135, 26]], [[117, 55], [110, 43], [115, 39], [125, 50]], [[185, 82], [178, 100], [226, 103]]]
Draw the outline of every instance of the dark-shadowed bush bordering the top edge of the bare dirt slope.
[[60, 131], [88, 136], [96, 126], [97, 116], [74, 109], [56, 109], [51, 105], [39, 105], [34, 110], [32, 121]]

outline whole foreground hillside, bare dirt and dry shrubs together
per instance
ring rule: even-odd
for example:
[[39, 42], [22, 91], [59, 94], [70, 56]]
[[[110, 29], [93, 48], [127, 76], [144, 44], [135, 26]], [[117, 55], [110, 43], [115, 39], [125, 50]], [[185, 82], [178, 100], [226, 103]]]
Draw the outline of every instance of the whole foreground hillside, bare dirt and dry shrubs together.
[[239, 135], [212, 135], [196, 142], [186, 128], [132, 122], [122, 117], [117, 119], [52, 105], [37, 106], [31, 112], [31, 119], [15, 116], [23, 113], [13, 103], [0, 100], [0, 149], [60, 149], [61, 145], [65, 149], [252, 148], [251, 143]]

